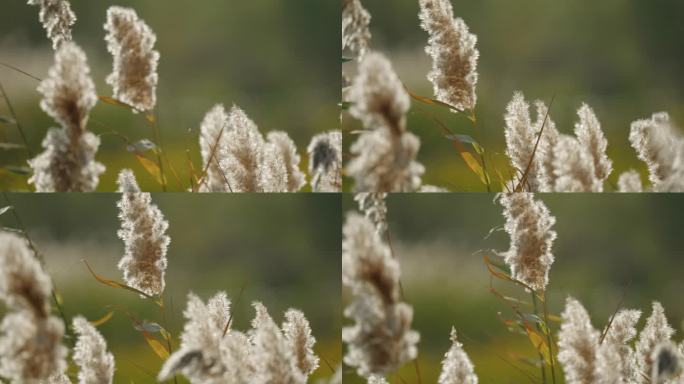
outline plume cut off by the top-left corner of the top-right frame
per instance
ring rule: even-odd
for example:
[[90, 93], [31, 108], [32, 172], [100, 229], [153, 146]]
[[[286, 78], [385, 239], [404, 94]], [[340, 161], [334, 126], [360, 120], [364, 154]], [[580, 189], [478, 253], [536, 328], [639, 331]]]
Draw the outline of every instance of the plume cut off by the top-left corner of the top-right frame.
[[342, 49], [351, 50], [361, 60], [368, 50], [371, 15], [360, 0], [342, 1]]

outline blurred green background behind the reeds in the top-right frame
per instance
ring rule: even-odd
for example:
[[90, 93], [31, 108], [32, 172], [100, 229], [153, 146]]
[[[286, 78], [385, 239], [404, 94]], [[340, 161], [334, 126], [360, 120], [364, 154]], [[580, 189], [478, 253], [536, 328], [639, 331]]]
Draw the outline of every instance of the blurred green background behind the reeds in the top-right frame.
[[[372, 14], [372, 49], [386, 54], [414, 93], [434, 97], [426, 79], [432, 63], [424, 52], [428, 35], [419, 26], [417, 0], [362, 0]], [[455, 191], [483, 191], [484, 186], [446, 140], [433, 118], [455, 133], [476, 138], [490, 163], [504, 175], [505, 107], [515, 90], [528, 100], [548, 104], [558, 129], [572, 133], [576, 111], [587, 102], [608, 137], [615, 185], [629, 168], [645, 174], [645, 165], [629, 145], [630, 123], [667, 111], [684, 126], [684, 2], [671, 0], [452, 0], [454, 13], [478, 37], [480, 74], [473, 129], [463, 116], [412, 101], [408, 128], [421, 139], [418, 159], [426, 184]], [[349, 74], [354, 63], [344, 64]], [[361, 127], [344, 119], [348, 132]], [[490, 164], [490, 165], [491, 165]], [[495, 179], [496, 174], [492, 175]], [[644, 177], [644, 181], [646, 178]], [[497, 183], [497, 189], [500, 189]], [[607, 187], [608, 190], [613, 188]]]

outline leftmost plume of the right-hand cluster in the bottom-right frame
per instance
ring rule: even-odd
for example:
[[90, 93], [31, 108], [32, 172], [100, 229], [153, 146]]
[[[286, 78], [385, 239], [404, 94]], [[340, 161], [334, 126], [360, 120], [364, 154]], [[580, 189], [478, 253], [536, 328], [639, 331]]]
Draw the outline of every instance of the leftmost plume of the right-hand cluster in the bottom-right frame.
[[595, 382], [599, 337], [586, 309], [577, 300], [568, 297], [558, 333], [558, 362], [563, 367], [568, 384]]

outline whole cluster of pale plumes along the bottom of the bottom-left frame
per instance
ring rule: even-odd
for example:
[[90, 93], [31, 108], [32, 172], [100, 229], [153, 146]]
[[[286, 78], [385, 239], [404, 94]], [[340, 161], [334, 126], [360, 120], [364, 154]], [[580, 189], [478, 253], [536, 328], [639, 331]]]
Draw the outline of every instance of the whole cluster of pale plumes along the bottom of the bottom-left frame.
[[279, 327], [261, 303], [254, 303], [252, 329], [232, 328], [230, 301], [223, 292], [205, 304], [190, 294], [181, 348], [164, 363], [159, 380], [180, 373], [191, 383], [305, 383], [318, 367], [315, 338], [304, 314], [290, 309]]

